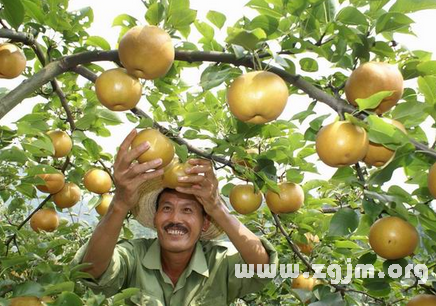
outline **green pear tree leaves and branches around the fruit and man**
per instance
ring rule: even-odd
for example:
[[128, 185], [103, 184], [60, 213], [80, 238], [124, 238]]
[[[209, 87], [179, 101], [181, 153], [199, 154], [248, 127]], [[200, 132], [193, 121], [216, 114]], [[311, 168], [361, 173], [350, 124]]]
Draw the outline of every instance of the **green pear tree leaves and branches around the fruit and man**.
[[[277, 216], [263, 205], [239, 217], [276, 246], [281, 263], [300, 263], [302, 272], [311, 272], [320, 263], [339, 264], [345, 271], [347, 258], [353, 265], [374, 264], [377, 273], [386, 271], [393, 262], [377, 257], [368, 244], [369, 228], [382, 216], [400, 216], [419, 232], [413, 256], [395, 263], [426, 264], [425, 284], [418, 284], [416, 276], [353, 276], [349, 284], [334, 284], [328, 278], [307, 293], [291, 289], [290, 279], [278, 275], [264, 291], [238, 303], [298, 305], [311, 298], [311, 305], [399, 305], [418, 293], [436, 294], [436, 213], [427, 186], [436, 152], [429, 145], [428, 131], [422, 129], [424, 121], [435, 127], [436, 62], [431, 53], [395, 41], [397, 33], [413, 35], [409, 13], [435, 9], [436, 1], [251, 0], [246, 6], [255, 16], [241, 16], [229, 24], [217, 11], [198, 19], [189, 0], [142, 0], [143, 20], [120, 14], [113, 26], [120, 29], [121, 38], [135, 25], [158, 25], [172, 36], [176, 61], [165, 77], [143, 82], [143, 109], [121, 113], [101, 106], [95, 95], [96, 76], [104, 71], [100, 62], [120, 63], [117, 51], [111, 51], [116, 46], [104, 33], [89, 35], [90, 7], [70, 11], [68, 0], [0, 3], [0, 37], [20, 45], [28, 60], [26, 81], [16, 88], [1, 88], [0, 116], [26, 103], [25, 98], [38, 99], [17, 122], [0, 126], [0, 304], [12, 296], [48, 295], [56, 299], [52, 305], [122, 305], [137, 293], [130, 288], [111, 299], [96, 295], [78, 282], [84, 276], [81, 267], [70, 265], [92, 232], [90, 218], [84, 215], [97, 204], [95, 195], [83, 197], [81, 211], [64, 210], [70, 220], [63, 220], [53, 233], [37, 234], [26, 222], [37, 209], [54, 207], [50, 197], [37, 192], [36, 174], [60, 169], [67, 181], [83, 187], [88, 169], [104, 166], [111, 171], [114, 156], [96, 136], [110, 139], [114, 133], [124, 133], [126, 125], [159, 128], [173, 139], [181, 160], [212, 159], [220, 169], [224, 196], [238, 183], [235, 173], [263, 192], [277, 190], [281, 180], [301, 184], [306, 200], [297, 213]], [[191, 38], [193, 31], [200, 34], [198, 41]], [[217, 39], [216, 33], [224, 31], [225, 39]], [[360, 101], [359, 109], [344, 100], [347, 77], [370, 60], [398, 65], [404, 79], [411, 81], [400, 103], [384, 114], [402, 122], [407, 137], [399, 137], [367, 111], [384, 93]], [[328, 73], [317, 73], [325, 64]], [[305, 109], [263, 125], [238, 121], [226, 104], [226, 88], [252, 69], [280, 75], [289, 85], [291, 99], [304, 97]], [[182, 72], [192, 70], [200, 75], [198, 86], [189, 86], [182, 78]], [[323, 104], [333, 112], [320, 107]], [[316, 155], [316, 134], [337, 115], [364, 127], [371, 141], [395, 149], [395, 158], [382, 168], [358, 163], [338, 168], [332, 177], [313, 179], [325, 168]], [[53, 145], [46, 132], [53, 129], [72, 136], [74, 147], [67, 158], [51, 157]], [[256, 148], [258, 154], [246, 153], [247, 148]], [[256, 171], [232, 162], [235, 155], [255, 164]], [[397, 169], [404, 171], [407, 188], [395, 181]], [[126, 222], [123, 236], [132, 238], [133, 228], [131, 221]], [[321, 240], [310, 256], [295, 244], [305, 242], [307, 232]]]

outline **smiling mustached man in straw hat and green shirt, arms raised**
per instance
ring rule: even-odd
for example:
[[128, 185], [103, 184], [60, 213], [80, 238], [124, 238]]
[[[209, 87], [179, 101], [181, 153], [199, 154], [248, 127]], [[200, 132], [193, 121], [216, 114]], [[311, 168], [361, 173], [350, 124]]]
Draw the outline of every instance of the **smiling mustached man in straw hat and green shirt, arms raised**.
[[[161, 160], [135, 163], [149, 148], [123, 141], [114, 164], [115, 196], [76, 262], [90, 263], [94, 277], [85, 283], [107, 296], [136, 287], [137, 305], [227, 305], [260, 290], [268, 278], [237, 278], [235, 264], [277, 264], [277, 253], [231, 215], [218, 194], [211, 163], [194, 159], [193, 176], [180, 181], [192, 187], [163, 189]], [[117, 240], [129, 211], [143, 225], [154, 227], [157, 239]], [[221, 231], [232, 242], [217, 242]], [[236, 250], [235, 250], [236, 248]]]

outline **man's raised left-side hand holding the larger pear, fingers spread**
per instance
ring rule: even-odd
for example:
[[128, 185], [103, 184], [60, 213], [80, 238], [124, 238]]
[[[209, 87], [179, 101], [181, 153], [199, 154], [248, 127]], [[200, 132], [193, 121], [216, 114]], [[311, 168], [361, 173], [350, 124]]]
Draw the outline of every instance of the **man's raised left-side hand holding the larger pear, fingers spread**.
[[136, 159], [150, 148], [148, 142], [129, 150], [136, 129], [133, 129], [121, 144], [114, 163], [115, 196], [114, 208], [127, 214], [139, 201], [139, 186], [144, 181], [163, 175], [163, 169], [156, 168], [162, 164], [162, 159], [155, 159], [139, 164]]

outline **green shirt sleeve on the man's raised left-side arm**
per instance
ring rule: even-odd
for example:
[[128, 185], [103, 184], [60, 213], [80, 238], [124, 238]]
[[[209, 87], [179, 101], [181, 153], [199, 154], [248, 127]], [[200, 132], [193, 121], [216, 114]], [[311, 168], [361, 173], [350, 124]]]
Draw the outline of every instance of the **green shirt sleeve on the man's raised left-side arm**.
[[[82, 263], [88, 243], [77, 251], [72, 261], [73, 265]], [[107, 297], [112, 296], [123, 288], [128, 275], [131, 274], [134, 260], [133, 245], [129, 241], [122, 240], [115, 246], [106, 271], [97, 279], [82, 279], [81, 281], [94, 292], [103, 293]]]

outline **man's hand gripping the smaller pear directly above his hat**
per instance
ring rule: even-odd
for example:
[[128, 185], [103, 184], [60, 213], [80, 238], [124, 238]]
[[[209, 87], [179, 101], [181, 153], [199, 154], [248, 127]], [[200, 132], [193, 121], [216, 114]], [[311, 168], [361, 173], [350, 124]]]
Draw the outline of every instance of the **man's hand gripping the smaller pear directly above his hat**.
[[221, 207], [218, 180], [213, 172], [212, 163], [205, 159], [190, 159], [188, 163], [192, 167], [187, 168], [185, 172], [197, 175], [180, 177], [179, 182], [191, 183], [192, 187], [177, 187], [176, 190], [194, 195], [206, 213], [212, 216]]

